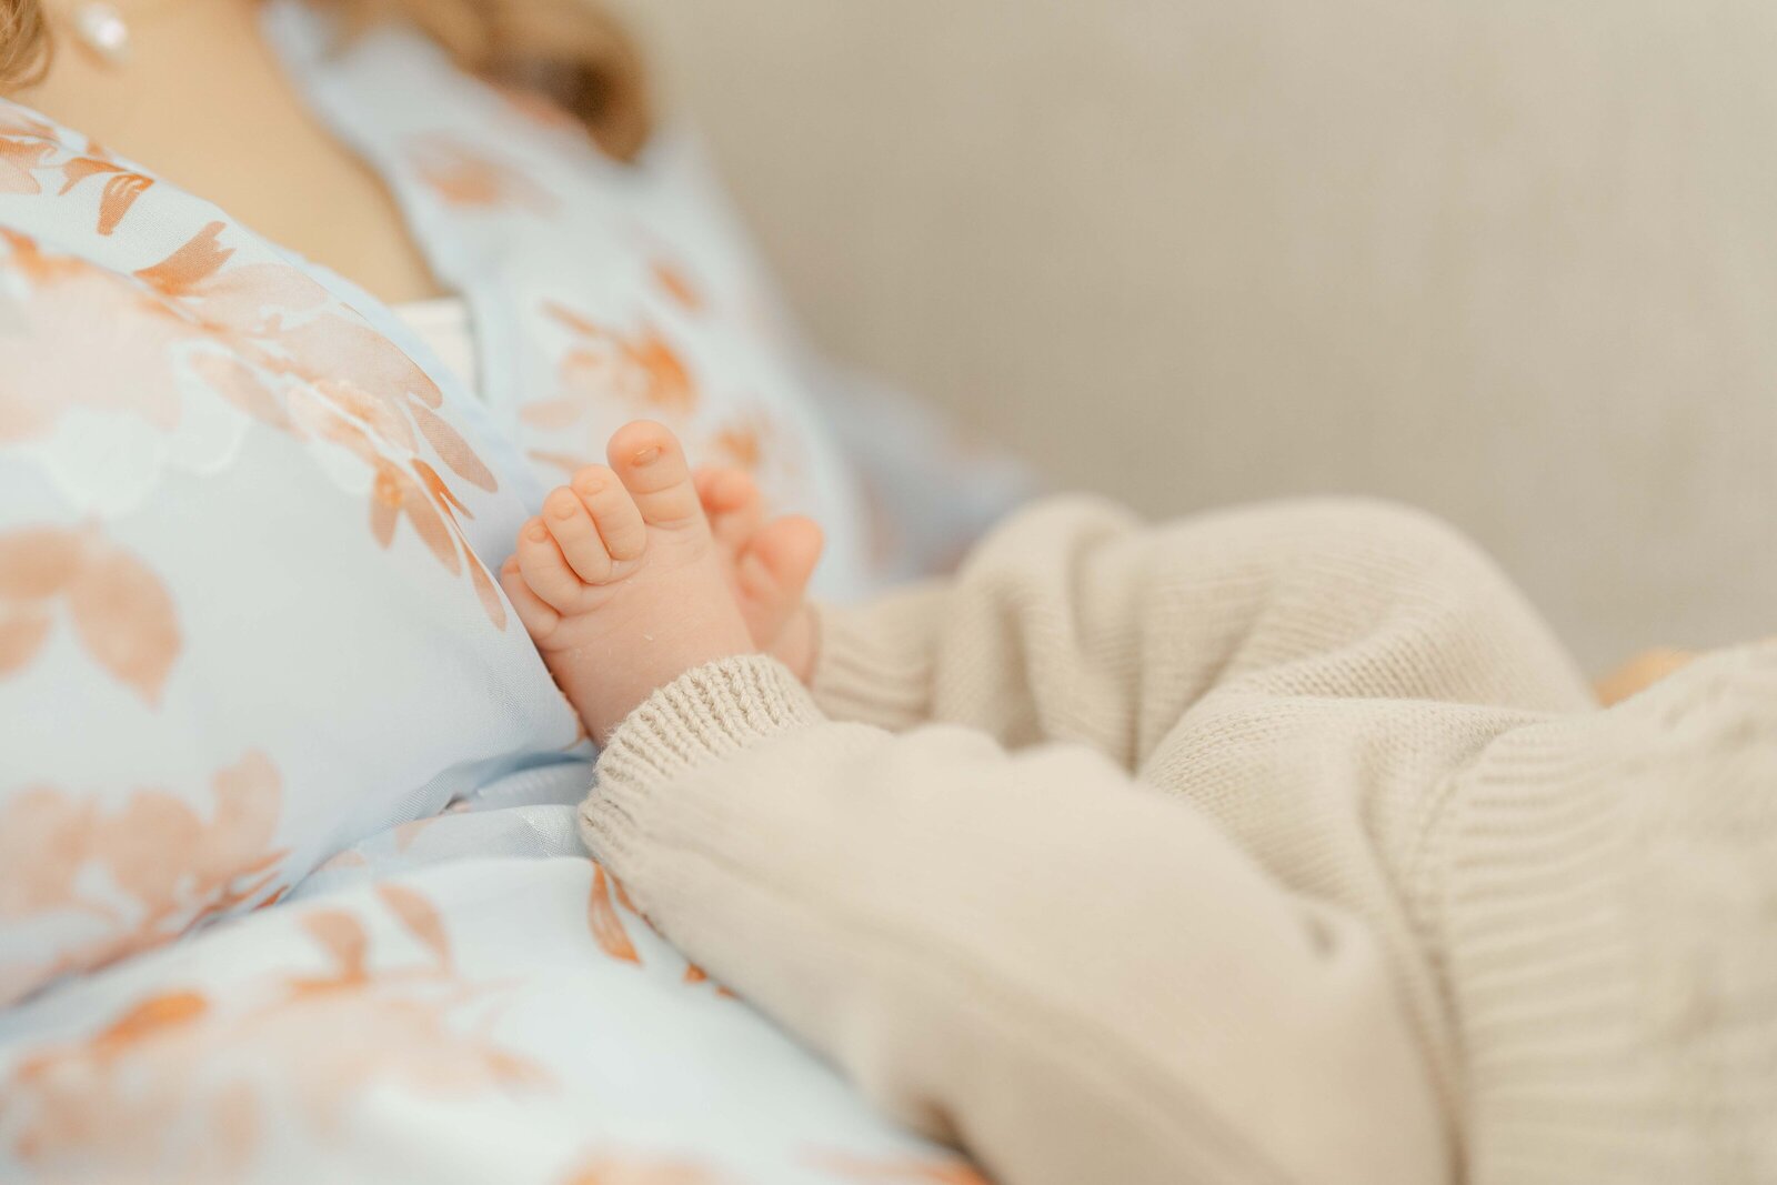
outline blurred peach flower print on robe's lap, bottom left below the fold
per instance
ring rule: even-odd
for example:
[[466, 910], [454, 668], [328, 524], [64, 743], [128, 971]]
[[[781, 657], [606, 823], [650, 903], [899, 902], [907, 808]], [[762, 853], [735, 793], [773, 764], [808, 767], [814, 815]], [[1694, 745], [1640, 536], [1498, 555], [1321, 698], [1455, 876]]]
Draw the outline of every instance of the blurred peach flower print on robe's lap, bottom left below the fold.
[[[322, 958], [316, 974], [268, 975], [231, 1000], [162, 990], [96, 1036], [20, 1062], [0, 1084], [9, 1100], [0, 1133], [14, 1155], [46, 1171], [179, 1164], [210, 1180], [247, 1169], [263, 1142], [261, 1116], [268, 1107], [283, 1114], [286, 1101], [306, 1139], [327, 1141], [373, 1086], [425, 1098], [549, 1086], [533, 1062], [451, 1022], [489, 988], [457, 974], [437, 908], [398, 883], [375, 894], [418, 947], [418, 963], [384, 958], [371, 968], [357, 913], [309, 908], [297, 924]], [[190, 1125], [192, 1116], [204, 1123]]]

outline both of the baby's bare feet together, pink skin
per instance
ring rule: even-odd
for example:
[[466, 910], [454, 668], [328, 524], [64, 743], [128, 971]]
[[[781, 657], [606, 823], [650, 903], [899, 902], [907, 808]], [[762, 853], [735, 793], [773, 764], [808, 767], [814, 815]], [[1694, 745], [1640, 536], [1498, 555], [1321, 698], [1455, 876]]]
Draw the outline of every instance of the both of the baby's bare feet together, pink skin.
[[499, 583], [599, 744], [656, 688], [736, 654], [814, 666], [803, 595], [821, 558], [810, 519], [766, 521], [739, 469], [686, 465], [665, 426], [636, 421], [549, 492]]

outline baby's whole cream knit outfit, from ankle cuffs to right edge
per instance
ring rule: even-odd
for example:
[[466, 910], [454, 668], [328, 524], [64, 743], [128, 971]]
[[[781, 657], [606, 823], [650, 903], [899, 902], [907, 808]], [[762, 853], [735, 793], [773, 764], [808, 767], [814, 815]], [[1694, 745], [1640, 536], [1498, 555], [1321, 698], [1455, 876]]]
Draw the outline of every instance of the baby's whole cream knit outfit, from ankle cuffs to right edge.
[[1777, 1180], [1777, 648], [1603, 712], [1368, 503], [1059, 501], [657, 691], [585, 835], [1002, 1185]]

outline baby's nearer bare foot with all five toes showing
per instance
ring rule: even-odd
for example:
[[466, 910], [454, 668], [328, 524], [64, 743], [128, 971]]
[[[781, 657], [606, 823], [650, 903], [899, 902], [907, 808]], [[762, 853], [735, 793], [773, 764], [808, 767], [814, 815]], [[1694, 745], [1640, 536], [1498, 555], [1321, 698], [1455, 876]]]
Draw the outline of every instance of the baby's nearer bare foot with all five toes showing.
[[608, 457], [544, 499], [499, 574], [599, 743], [656, 688], [755, 648], [672, 432], [627, 425]]

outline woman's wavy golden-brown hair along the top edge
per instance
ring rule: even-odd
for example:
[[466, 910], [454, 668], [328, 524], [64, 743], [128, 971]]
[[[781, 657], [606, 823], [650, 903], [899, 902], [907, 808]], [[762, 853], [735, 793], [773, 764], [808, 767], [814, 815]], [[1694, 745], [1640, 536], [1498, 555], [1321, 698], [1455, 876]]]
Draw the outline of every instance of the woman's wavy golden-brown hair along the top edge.
[[[405, 21], [490, 82], [535, 91], [599, 147], [633, 160], [654, 110], [634, 39], [597, 0], [315, 0], [350, 34]], [[41, 0], [0, 0], [0, 92], [43, 76], [52, 53]]]

